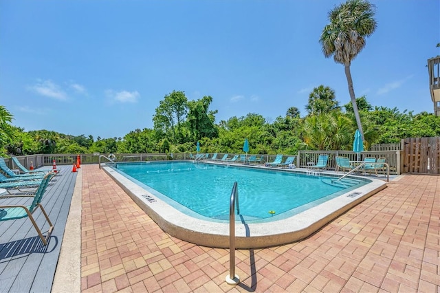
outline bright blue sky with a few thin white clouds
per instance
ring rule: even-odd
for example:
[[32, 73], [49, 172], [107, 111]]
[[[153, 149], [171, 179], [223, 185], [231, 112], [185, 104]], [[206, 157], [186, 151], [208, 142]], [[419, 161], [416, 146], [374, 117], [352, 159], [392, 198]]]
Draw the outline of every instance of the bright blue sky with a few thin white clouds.
[[[96, 139], [153, 128], [173, 90], [212, 96], [217, 120], [272, 122], [314, 87], [349, 102], [344, 67], [318, 42], [342, 1], [0, 0], [0, 105], [25, 131]], [[427, 59], [440, 54], [439, 0], [380, 0], [351, 64], [356, 96], [432, 113]]]

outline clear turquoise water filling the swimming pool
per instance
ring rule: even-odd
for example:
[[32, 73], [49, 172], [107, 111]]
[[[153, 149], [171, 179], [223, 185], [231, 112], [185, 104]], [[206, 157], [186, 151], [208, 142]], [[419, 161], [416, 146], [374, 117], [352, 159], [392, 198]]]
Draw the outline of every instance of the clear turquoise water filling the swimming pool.
[[117, 170], [178, 210], [217, 220], [229, 218], [234, 182], [241, 219], [246, 221], [290, 217], [368, 183], [351, 180], [351, 186], [343, 188], [325, 184], [322, 176], [194, 162], [124, 163]]

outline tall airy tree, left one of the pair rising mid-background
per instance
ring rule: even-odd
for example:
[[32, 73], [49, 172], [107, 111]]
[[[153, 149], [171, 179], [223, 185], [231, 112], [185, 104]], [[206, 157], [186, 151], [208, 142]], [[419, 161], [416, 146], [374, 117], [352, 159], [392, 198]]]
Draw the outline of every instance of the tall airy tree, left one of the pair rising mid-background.
[[159, 102], [153, 116], [154, 129], [165, 133], [173, 143], [183, 138], [181, 126], [188, 113], [188, 98], [184, 91], [173, 91]]

